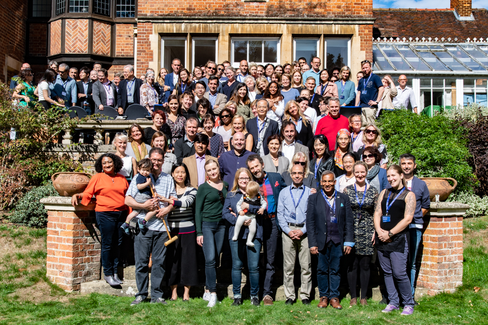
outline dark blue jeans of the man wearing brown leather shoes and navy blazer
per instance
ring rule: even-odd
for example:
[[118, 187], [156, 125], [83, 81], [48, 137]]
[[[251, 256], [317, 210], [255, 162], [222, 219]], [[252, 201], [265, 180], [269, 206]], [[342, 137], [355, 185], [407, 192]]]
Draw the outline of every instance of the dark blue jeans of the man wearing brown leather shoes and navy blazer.
[[324, 249], [319, 250], [317, 285], [321, 297], [339, 298], [341, 284], [339, 269], [342, 256], [341, 243], [334, 244], [330, 241], [325, 244]]

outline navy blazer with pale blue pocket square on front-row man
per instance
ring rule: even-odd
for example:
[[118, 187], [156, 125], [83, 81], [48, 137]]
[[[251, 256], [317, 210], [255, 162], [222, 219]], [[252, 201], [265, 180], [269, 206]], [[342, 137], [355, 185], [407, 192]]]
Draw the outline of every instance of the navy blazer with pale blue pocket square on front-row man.
[[[336, 217], [342, 248], [344, 247], [344, 242], [354, 242], [354, 216], [352, 214], [349, 197], [339, 191], [336, 192]], [[327, 203], [320, 190], [308, 197], [306, 232], [309, 248], [317, 247], [319, 250], [325, 248], [325, 238], [327, 233], [327, 220], [325, 215], [326, 204]]]

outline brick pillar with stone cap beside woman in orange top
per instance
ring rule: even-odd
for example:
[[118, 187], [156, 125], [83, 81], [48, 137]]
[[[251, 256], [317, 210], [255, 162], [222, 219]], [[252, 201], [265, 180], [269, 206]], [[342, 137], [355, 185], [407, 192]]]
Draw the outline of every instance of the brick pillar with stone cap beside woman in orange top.
[[100, 280], [100, 231], [95, 228], [95, 199], [71, 205], [71, 197], [41, 199], [47, 210], [47, 277], [66, 291]]

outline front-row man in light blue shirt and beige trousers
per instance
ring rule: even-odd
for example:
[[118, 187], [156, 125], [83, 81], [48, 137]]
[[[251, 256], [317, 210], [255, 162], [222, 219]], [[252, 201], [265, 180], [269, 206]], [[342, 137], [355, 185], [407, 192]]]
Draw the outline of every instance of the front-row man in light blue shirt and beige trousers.
[[286, 305], [295, 303], [295, 285], [293, 271], [298, 253], [301, 273], [300, 298], [302, 304], [310, 305], [310, 291], [312, 276], [310, 270], [310, 252], [306, 235], [306, 208], [310, 189], [303, 185], [305, 169], [302, 165], [291, 168], [293, 184], [280, 192], [278, 204], [278, 223], [283, 230], [283, 287], [285, 289]]

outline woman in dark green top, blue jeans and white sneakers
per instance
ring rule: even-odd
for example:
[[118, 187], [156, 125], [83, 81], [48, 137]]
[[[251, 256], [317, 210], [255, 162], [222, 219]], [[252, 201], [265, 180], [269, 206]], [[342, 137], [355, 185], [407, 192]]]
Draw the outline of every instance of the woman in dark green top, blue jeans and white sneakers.
[[203, 300], [208, 301], [207, 307], [213, 307], [217, 304], [215, 260], [220, 256], [222, 245], [224, 245], [225, 223], [222, 219], [222, 210], [229, 184], [220, 180], [220, 168], [217, 161], [207, 160], [204, 168], [208, 181], [198, 187], [195, 201], [195, 226], [197, 227], [197, 244], [202, 246], [203, 255], [205, 255]]

